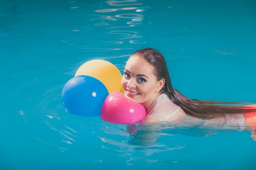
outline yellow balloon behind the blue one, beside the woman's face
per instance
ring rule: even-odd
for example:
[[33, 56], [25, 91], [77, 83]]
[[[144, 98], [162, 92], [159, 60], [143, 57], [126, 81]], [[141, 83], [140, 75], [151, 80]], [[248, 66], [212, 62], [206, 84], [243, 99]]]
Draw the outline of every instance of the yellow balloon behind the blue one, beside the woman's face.
[[102, 59], [93, 59], [85, 62], [76, 71], [75, 77], [79, 75], [91, 76], [101, 81], [108, 89], [108, 93], [121, 92], [122, 74], [111, 62]]

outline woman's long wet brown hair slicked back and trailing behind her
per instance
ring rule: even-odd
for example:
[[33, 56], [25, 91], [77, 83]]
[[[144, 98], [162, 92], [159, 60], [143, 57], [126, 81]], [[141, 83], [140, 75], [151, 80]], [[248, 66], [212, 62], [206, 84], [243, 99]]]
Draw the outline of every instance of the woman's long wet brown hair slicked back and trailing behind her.
[[250, 104], [247, 102], [220, 102], [189, 99], [180, 94], [179, 91], [172, 87], [166, 60], [159, 51], [153, 48], [143, 48], [135, 51], [131, 57], [140, 57], [151, 64], [154, 67], [153, 74], [157, 78], [157, 81], [165, 79], [161, 93], [167, 94], [173, 103], [180, 106], [183, 111], [190, 116], [201, 119], [212, 119], [225, 116], [226, 114], [256, 112], [256, 108], [252, 106], [242, 106]]

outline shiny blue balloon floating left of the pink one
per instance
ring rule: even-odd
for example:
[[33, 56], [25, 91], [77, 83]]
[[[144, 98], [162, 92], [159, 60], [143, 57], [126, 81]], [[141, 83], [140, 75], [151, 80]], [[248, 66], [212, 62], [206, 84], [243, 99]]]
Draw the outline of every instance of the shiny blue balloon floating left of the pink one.
[[62, 103], [68, 113], [79, 116], [99, 116], [108, 89], [98, 79], [76, 76], [62, 89]]

